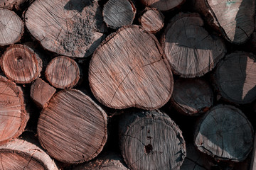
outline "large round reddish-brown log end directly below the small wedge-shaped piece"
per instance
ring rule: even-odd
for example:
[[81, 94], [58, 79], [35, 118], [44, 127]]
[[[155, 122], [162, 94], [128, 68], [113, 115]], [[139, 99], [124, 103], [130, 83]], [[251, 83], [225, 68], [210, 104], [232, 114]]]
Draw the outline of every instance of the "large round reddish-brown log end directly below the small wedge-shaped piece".
[[89, 161], [107, 140], [107, 114], [81, 91], [60, 91], [41, 112], [38, 139], [60, 162]]

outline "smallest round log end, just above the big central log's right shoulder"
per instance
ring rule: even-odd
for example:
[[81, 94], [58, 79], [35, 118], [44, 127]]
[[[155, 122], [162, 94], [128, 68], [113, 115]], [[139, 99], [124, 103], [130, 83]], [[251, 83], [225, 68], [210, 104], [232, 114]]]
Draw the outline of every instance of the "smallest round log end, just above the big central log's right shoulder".
[[164, 27], [164, 15], [156, 8], [146, 8], [139, 22], [150, 33], [157, 33]]

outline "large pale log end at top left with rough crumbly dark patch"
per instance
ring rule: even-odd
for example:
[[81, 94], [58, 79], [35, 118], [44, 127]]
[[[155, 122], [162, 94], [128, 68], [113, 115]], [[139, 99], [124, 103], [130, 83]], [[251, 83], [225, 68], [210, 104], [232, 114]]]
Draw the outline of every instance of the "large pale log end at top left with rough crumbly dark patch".
[[33, 37], [60, 55], [88, 57], [105, 38], [102, 11], [94, 0], [36, 0], [25, 16]]

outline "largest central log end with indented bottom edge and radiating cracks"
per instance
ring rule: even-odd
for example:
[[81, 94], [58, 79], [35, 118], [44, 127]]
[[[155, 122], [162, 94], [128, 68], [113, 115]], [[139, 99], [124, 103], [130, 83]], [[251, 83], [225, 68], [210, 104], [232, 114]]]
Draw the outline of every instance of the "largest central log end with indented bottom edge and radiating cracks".
[[169, 101], [174, 83], [156, 37], [139, 26], [120, 28], [102, 42], [92, 55], [89, 81], [105, 106], [149, 110]]

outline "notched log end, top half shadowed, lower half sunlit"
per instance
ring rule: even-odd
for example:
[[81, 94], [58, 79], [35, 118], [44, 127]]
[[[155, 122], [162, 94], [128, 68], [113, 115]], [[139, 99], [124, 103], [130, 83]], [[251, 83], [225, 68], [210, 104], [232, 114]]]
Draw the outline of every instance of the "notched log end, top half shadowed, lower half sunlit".
[[171, 19], [162, 46], [174, 74], [201, 77], [225, 55], [224, 42], [203, 28], [198, 13], [179, 13]]

